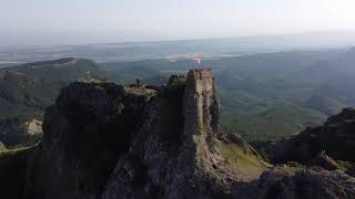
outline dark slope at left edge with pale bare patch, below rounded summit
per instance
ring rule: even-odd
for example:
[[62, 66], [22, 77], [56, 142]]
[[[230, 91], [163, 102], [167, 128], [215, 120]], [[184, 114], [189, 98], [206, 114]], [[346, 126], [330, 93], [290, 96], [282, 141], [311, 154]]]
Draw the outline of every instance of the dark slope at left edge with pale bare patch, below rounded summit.
[[0, 142], [29, 146], [41, 137], [41, 121], [62, 84], [0, 71]]

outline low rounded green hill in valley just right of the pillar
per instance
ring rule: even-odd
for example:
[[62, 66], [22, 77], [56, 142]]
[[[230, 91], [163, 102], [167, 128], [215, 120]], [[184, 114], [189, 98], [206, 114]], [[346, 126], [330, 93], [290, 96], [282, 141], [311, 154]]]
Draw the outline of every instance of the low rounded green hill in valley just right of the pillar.
[[247, 142], [277, 140], [300, 133], [307, 126], [322, 124], [326, 116], [296, 105], [277, 105], [260, 108], [254, 113], [222, 115], [226, 132], [239, 133]]

